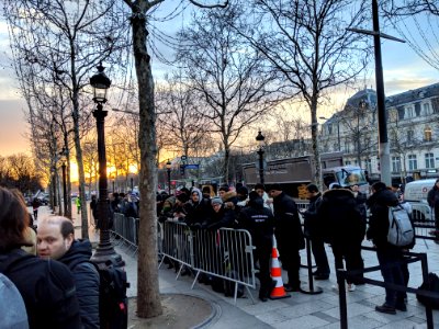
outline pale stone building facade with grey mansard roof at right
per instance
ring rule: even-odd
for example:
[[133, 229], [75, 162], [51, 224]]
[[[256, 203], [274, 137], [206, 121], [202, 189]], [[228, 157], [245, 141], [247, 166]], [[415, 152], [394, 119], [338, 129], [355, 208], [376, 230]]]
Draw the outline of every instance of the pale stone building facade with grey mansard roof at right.
[[[439, 83], [387, 97], [387, 136], [394, 182], [439, 177]], [[364, 89], [320, 126], [320, 147], [340, 150], [345, 164], [380, 179], [376, 93]]]

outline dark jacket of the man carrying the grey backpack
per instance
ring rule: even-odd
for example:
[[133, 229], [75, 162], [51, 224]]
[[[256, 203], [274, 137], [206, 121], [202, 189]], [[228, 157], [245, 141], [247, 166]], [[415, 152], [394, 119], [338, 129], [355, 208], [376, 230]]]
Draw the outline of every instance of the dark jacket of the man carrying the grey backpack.
[[367, 237], [376, 248], [398, 248], [387, 242], [389, 206], [396, 206], [398, 200], [392, 191], [381, 190], [373, 193], [367, 205], [370, 208], [369, 228]]

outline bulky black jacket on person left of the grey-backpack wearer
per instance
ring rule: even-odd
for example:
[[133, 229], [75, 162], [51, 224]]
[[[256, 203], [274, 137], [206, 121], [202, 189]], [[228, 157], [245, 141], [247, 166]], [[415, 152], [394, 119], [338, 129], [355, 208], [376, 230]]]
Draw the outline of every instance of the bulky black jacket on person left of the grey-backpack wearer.
[[324, 192], [317, 215], [325, 241], [350, 243], [364, 239], [365, 220], [357, 211], [357, 202], [350, 190]]

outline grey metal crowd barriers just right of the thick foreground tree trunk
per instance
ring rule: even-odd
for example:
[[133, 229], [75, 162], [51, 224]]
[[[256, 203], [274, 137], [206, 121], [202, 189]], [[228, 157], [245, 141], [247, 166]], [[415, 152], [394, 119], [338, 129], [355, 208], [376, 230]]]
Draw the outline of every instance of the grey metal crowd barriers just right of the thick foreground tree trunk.
[[[238, 285], [243, 285], [254, 300], [249, 288], [256, 288], [255, 263], [250, 234], [245, 229], [219, 228], [190, 230], [184, 223], [165, 222], [161, 225], [161, 263], [169, 258], [195, 272], [192, 288], [201, 273], [234, 283], [236, 304]], [[160, 266], [159, 265], [159, 266]]]

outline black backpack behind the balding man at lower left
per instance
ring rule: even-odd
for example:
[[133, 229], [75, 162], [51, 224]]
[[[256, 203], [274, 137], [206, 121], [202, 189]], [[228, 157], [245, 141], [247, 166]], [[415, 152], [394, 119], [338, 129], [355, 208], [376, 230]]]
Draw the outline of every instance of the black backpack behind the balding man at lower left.
[[[94, 264], [95, 265], [95, 264]], [[112, 261], [95, 265], [99, 277], [99, 317], [101, 329], [124, 329], [128, 326], [128, 298], [126, 288], [130, 283], [126, 272]]]

